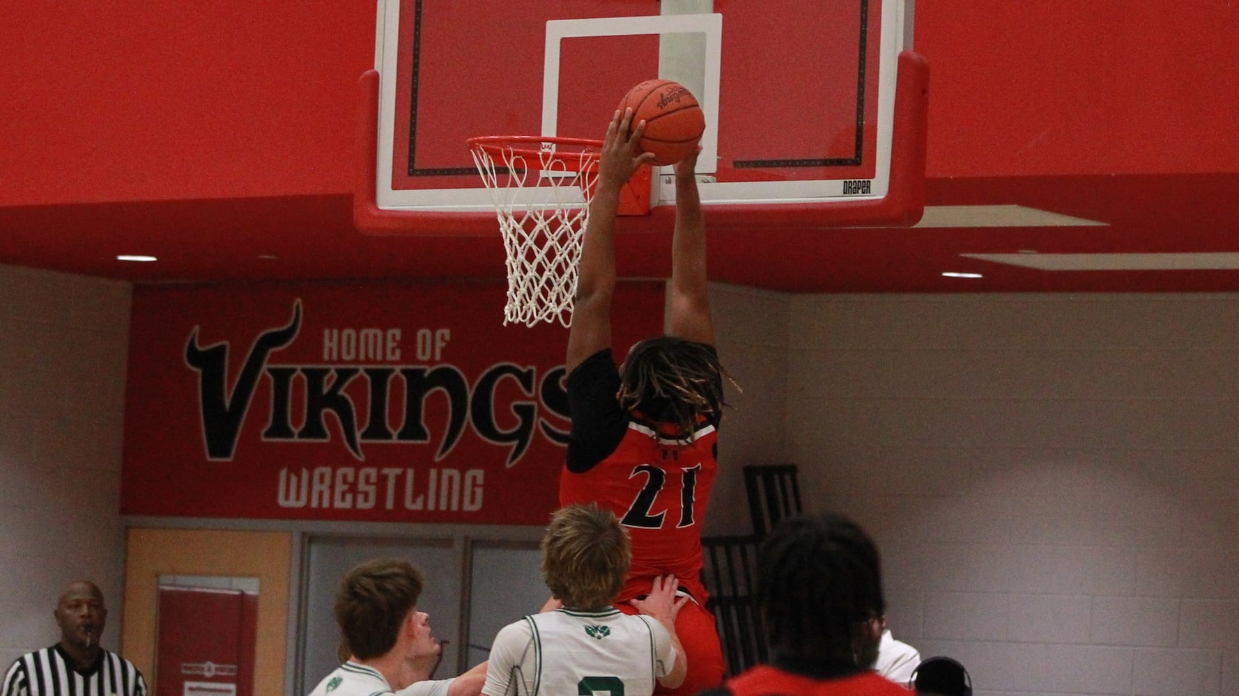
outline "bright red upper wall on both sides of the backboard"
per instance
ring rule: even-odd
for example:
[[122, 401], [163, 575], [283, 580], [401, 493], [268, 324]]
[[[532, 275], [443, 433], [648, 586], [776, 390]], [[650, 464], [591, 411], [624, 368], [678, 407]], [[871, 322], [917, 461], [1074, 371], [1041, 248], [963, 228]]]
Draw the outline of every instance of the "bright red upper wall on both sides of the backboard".
[[[1239, 139], [1218, 128], [1239, 113], [1237, 11], [918, 2], [929, 176], [1239, 170]], [[369, 1], [9, 4], [0, 207], [351, 193], [373, 30]], [[1186, 99], [1202, 82], [1220, 97]]]

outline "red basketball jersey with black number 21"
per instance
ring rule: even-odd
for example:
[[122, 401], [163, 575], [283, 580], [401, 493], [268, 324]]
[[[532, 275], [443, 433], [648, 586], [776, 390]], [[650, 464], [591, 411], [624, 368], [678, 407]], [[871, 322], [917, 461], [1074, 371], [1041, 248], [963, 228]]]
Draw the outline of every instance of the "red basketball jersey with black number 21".
[[597, 503], [620, 518], [632, 539], [632, 570], [618, 602], [648, 594], [657, 576], [674, 573], [701, 606], [701, 521], [719, 463], [712, 425], [676, 440], [631, 421], [620, 446], [585, 473], [566, 468], [559, 503]]

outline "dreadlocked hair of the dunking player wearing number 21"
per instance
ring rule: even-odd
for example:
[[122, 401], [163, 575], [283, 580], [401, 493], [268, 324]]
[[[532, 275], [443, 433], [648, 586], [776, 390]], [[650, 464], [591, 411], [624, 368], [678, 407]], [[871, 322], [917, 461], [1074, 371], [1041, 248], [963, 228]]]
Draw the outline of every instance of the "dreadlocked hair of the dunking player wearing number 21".
[[674, 424], [689, 438], [699, 417], [712, 419], [726, 401], [722, 369], [714, 347], [674, 336], [647, 338], [632, 347], [620, 375], [616, 398], [628, 411]]

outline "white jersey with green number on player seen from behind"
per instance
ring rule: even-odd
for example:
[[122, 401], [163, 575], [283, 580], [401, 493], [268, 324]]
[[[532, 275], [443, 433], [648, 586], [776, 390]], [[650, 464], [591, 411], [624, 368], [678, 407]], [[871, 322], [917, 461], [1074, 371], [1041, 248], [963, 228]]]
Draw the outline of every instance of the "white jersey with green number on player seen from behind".
[[672, 637], [653, 618], [564, 608], [499, 630], [482, 694], [649, 696], [674, 664]]

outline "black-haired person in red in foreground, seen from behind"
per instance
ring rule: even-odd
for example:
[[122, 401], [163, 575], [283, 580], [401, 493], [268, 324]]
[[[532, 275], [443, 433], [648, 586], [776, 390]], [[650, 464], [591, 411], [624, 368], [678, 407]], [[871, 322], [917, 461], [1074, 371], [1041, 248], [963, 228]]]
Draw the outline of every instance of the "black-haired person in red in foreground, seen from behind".
[[771, 664], [729, 680], [735, 696], [907, 696], [872, 671], [886, 612], [877, 547], [840, 515], [779, 523], [757, 556]]

